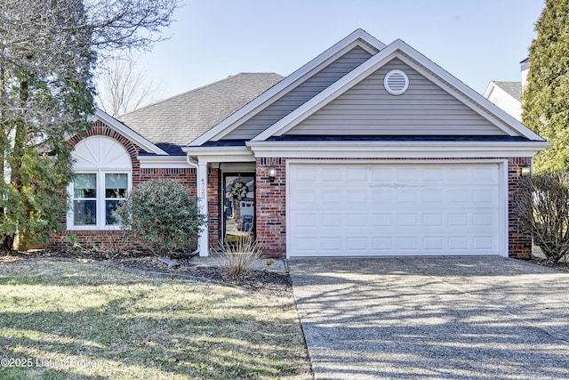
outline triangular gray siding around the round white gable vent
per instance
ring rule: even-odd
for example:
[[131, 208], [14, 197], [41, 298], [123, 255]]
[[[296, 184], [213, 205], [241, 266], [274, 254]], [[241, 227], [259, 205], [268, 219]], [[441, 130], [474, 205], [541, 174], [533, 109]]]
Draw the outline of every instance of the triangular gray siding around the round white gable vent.
[[[398, 96], [383, 87], [402, 69], [409, 88]], [[505, 135], [474, 110], [403, 61], [393, 60], [318, 110], [287, 134], [298, 135]]]

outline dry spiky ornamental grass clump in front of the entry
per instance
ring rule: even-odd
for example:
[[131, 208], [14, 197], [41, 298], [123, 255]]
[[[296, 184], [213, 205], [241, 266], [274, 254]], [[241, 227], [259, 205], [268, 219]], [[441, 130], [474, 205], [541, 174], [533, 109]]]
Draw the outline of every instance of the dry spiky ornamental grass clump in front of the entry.
[[252, 236], [240, 236], [236, 241], [225, 241], [219, 249], [228, 279], [242, 279], [262, 257], [263, 253]]

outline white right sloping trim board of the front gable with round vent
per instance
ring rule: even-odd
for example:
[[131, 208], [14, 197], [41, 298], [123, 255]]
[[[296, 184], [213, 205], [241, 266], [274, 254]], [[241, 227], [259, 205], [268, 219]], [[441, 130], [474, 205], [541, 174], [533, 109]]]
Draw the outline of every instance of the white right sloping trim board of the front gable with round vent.
[[[401, 41], [401, 40], [397, 40], [397, 41]], [[403, 41], [401, 41], [401, 42], [403, 44], [405, 44], [405, 42], [403, 42]], [[483, 95], [481, 95], [480, 93], [477, 93], [476, 91], [471, 89], [468, 85], [465, 85], [464, 83], [462, 83], [459, 79], [457, 79], [456, 77], [451, 75], [448, 71], [446, 71], [445, 69], [442, 69], [435, 62], [430, 61], [429, 58], [427, 58], [423, 54], [421, 54], [418, 51], [416, 51], [415, 49], [413, 49], [413, 47], [409, 46], [408, 44], [405, 44], [405, 50], [403, 50], [403, 52], [405, 54], [407, 54], [409, 57], [411, 57], [414, 61], [418, 61], [419, 63], [421, 63], [421, 65], [423, 65], [425, 68], [429, 69], [429, 71], [431, 71], [437, 77], [440, 77], [447, 84], [456, 88], [464, 96], [471, 99], [474, 102], [474, 103], [471, 103], [471, 105], [474, 106], [474, 107], [472, 107], [473, 109], [475, 109], [475, 110], [479, 109], [479, 110], [482, 110], [489, 115], [492, 115], [493, 117], [497, 117], [499, 120], [501, 120], [501, 122], [508, 125], [511, 129], [513, 129], [514, 131], [516, 131], [517, 133], [519, 133], [520, 135], [522, 135], [523, 137], [525, 137], [527, 139], [530, 139], [533, 141], [544, 141], [540, 135], [538, 135], [537, 133], [534, 133], [531, 129], [529, 129], [528, 127], [526, 127], [525, 125], [523, 125], [522, 123], [517, 121], [515, 117], [510, 116], [506, 111], [504, 111], [500, 107], [493, 104], [492, 101], [487, 100]], [[413, 69], [418, 69], [421, 72], [421, 74], [428, 76], [429, 79], [431, 79], [431, 80], [436, 79], [432, 75], [429, 75], [428, 72], [425, 72], [425, 70], [421, 70], [421, 68], [416, 68], [416, 65], [413, 65]], [[445, 85], [445, 83], [442, 83], [439, 85], [444, 85], [443, 88], [445, 88], [447, 91], [452, 91], [452, 89], [450, 89], [448, 85]], [[488, 116], [489, 116], [489, 115], [484, 115], [484, 114], [480, 114], [480, 115], [485, 117], [486, 119], [488, 119]], [[488, 120], [492, 122], [492, 120], [490, 120], [490, 119], [488, 119]], [[495, 123], [493, 123], [493, 124], [496, 125]], [[501, 127], [503, 129], [503, 127], [501, 125], [496, 125], [496, 126]]]

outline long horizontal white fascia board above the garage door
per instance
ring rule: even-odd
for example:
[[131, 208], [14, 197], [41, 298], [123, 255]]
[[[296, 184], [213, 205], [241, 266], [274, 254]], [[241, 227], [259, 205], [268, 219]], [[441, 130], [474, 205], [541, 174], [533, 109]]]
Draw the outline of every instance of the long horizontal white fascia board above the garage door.
[[547, 141], [250, 141], [255, 158], [534, 157]]

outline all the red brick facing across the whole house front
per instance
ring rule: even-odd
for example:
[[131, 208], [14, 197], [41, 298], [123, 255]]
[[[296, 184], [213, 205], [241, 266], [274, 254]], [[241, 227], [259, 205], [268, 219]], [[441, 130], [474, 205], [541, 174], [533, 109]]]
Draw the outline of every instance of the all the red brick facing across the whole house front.
[[[196, 170], [194, 168], [140, 168], [138, 154], [140, 148], [100, 121], [85, 136], [74, 136], [69, 142], [75, 146], [82, 139], [90, 136], [108, 136], [120, 142], [129, 152], [132, 160], [132, 185], [156, 179], [170, 179], [186, 186], [191, 195], [196, 195]], [[291, 158], [292, 159], [292, 158]], [[321, 158], [326, 159], [326, 158]], [[413, 158], [416, 159], [416, 158]], [[432, 161], [431, 158], [424, 158]], [[448, 158], [465, 160], [469, 158]], [[501, 158], [504, 159], [504, 158]], [[385, 159], [382, 159], [385, 161]], [[394, 158], [393, 161], [405, 161]], [[444, 161], [444, 160], [439, 160]], [[517, 181], [524, 166], [531, 166], [531, 158], [508, 158], [509, 188], [509, 256], [529, 259], [532, 255], [532, 239], [521, 229], [514, 209], [517, 195]], [[268, 179], [268, 169], [274, 166], [274, 182]], [[208, 173], [208, 230], [210, 247], [217, 247], [221, 234], [221, 197], [220, 169], [212, 168]], [[286, 256], [286, 158], [257, 158], [256, 173], [256, 235], [257, 241], [266, 256]], [[65, 225], [65, 221], [62, 221]], [[51, 247], [67, 248], [73, 242], [83, 247], [116, 246], [118, 244], [140, 247], [135, 240], [124, 239], [122, 231], [71, 230], [53, 239]]]

